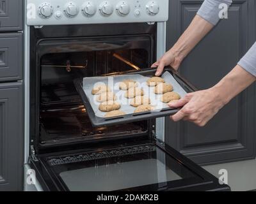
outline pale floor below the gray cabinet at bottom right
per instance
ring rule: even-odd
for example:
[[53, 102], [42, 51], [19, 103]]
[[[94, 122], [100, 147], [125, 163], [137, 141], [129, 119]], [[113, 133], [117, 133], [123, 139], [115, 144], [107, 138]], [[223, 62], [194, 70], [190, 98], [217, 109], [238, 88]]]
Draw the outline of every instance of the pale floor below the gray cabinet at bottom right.
[[220, 177], [220, 170], [227, 170], [228, 186], [231, 187], [232, 191], [256, 189], [256, 159], [203, 166], [203, 168], [218, 178]]

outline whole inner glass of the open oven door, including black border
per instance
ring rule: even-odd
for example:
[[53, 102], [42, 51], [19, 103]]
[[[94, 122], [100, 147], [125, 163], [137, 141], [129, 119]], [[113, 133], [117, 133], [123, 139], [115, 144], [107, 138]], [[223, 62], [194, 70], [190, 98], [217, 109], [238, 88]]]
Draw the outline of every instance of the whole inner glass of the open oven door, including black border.
[[51, 157], [46, 163], [67, 191], [159, 190], [203, 180], [156, 145]]

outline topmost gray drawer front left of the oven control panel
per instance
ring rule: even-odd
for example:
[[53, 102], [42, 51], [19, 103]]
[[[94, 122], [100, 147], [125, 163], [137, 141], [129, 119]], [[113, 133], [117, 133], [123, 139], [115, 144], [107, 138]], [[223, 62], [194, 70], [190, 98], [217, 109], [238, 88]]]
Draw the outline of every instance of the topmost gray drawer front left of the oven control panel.
[[0, 0], [0, 31], [21, 31], [22, 10], [22, 0]]

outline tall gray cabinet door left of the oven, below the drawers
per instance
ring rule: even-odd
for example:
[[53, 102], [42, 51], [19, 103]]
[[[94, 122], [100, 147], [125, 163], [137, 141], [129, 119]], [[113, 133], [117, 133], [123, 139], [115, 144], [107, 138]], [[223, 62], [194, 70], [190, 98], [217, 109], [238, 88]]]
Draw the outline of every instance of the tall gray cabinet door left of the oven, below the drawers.
[[0, 84], [0, 191], [22, 190], [22, 111], [22, 85]]

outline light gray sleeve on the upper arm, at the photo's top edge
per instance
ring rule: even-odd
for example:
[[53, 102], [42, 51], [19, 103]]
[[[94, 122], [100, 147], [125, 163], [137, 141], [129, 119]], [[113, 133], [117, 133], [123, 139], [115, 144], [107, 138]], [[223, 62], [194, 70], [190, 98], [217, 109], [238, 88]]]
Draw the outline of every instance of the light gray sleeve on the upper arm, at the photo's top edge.
[[223, 3], [229, 7], [232, 4], [232, 0], [205, 0], [197, 15], [207, 20], [210, 24], [216, 25], [220, 20], [219, 13], [221, 9], [219, 6]]

